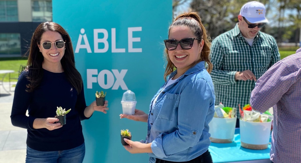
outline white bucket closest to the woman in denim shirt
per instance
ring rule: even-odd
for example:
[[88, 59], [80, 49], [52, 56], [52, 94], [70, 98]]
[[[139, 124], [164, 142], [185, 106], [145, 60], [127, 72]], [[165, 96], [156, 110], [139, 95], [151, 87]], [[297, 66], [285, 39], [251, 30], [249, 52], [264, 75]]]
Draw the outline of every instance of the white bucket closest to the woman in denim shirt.
[[209, 123], [210, 140], [213, 143], [232, 143], [235, 133], [236, 117], [215, 118]]

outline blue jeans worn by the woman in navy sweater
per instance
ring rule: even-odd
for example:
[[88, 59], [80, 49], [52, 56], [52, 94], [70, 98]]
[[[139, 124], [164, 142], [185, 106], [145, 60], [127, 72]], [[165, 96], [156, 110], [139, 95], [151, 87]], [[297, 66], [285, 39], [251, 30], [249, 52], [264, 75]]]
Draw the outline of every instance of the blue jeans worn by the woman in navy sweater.
[[85, 143], [63, 151], [37, 151], [27, 146], [26, 163], [82, 163], [85, 156]]

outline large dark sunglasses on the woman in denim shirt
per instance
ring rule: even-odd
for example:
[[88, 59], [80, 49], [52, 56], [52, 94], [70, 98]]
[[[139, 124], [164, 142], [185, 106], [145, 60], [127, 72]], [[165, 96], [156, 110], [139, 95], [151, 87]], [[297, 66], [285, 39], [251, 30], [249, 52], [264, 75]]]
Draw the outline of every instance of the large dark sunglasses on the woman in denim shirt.
[[[195, 39], [196, 38], [187, 38], [187, 39], [181, 39], [180, 41], [177, 41], [175, 39], [166, 39], [164, 40], [164, 43], [167, 50], [177, 49], [178, 43], [180, 44], [182, 49], [188, 50], [192, 48]], [[201, 39], [196, 39], [196, 40], [201, 40]]]

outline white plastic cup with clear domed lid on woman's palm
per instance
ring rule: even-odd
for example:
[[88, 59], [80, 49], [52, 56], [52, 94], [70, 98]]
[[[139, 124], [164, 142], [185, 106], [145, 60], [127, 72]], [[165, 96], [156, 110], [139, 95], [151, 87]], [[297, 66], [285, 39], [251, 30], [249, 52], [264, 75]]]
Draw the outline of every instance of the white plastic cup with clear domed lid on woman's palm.
[[134, 92], [131, 90], [124, 92], [121, 101], [123, 114], [134, 115], [136, 103], [137, 101]]

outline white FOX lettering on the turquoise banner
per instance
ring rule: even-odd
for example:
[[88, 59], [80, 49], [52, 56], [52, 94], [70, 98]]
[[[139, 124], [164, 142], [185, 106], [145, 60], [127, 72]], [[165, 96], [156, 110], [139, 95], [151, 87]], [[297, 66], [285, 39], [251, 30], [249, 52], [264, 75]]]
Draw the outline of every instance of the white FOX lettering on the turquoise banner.
[[[103, 89], [109, 89], [112, 86], [113, 90], [117, 90], [119, 86], [123, 90], [128, 90], [126, 83], [124, 83], [123, 78], [128, 70], [102, 70], [98, 73], [97, 69], [87, 69], [87, 88], [92, 89], [93, 83], [98, 83]], [[93, 76], [94, 75], [94, 76]], [[96, 75], [98, 75], [96, 77]], [[105, 81], [106, 76], [106, 81]], [[115, 81], [116, 78], [116, 81]]]

